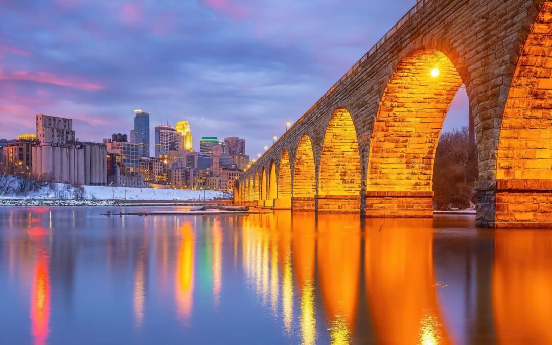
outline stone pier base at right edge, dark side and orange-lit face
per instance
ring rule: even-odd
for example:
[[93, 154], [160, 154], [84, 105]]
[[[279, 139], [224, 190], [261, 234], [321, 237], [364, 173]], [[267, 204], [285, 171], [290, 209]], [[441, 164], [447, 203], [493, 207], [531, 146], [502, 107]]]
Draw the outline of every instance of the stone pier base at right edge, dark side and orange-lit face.
[[550, 229], [552, 180], [501, 179], [477, 181], [478, 227]]

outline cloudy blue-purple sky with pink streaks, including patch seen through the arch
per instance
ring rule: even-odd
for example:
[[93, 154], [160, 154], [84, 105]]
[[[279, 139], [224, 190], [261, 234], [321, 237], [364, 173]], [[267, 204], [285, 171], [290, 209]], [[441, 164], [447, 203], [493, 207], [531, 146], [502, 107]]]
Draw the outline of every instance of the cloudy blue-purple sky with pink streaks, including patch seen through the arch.
[[[79, 140], [188, 120], [256, 156], [299, 119], [415, 0], [0, 0], [0, 138], [38, 113]], [[443, 130], [467, 124], [464, 89]], [[153, 152], [153, 151], [152, 151]]]

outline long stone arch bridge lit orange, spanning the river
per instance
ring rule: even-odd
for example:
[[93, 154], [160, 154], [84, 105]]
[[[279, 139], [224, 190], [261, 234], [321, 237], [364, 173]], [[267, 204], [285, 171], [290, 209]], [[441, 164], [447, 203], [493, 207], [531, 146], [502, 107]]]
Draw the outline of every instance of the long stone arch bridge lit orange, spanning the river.
[[236, 183], [235, 202], [432, 216], [443, 120], [464, 85], [477, 225], [552, 227], [552, 1], [418, 0]]

